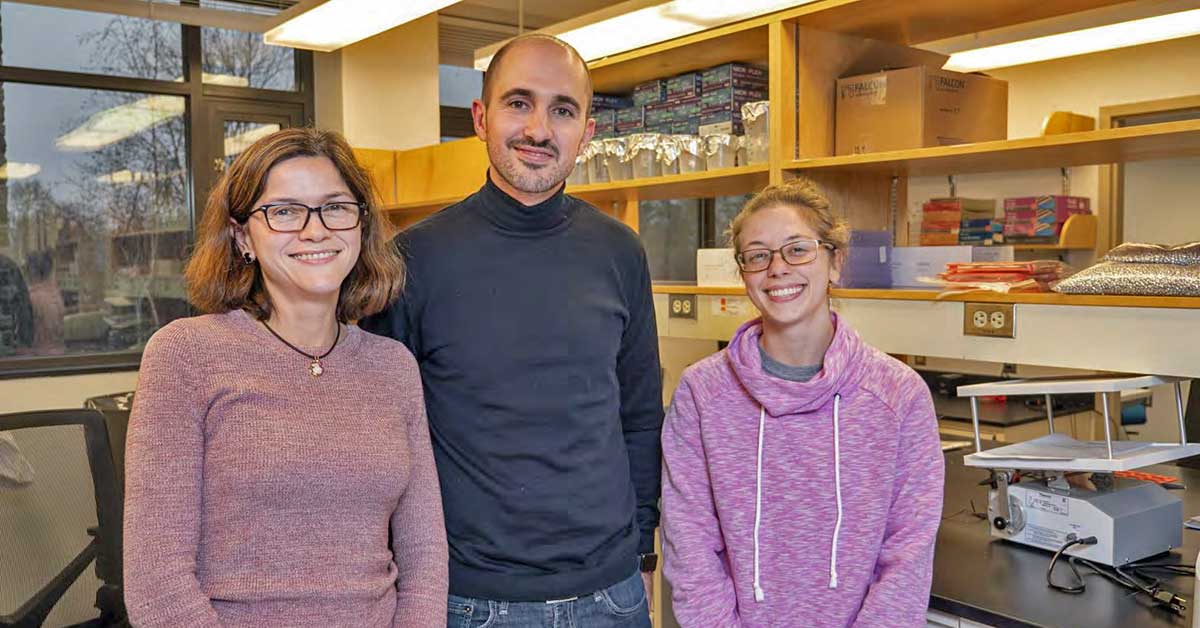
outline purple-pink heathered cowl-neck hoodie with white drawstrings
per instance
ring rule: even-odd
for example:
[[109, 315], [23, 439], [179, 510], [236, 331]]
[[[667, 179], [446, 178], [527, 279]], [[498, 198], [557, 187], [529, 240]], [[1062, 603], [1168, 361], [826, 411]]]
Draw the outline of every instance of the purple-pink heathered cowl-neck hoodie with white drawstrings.
[[834, 316], [820, 373], [762, 369], [761, 321], [689, 367], [662, 426], [683, 628], [925, 626], [944, 465], [929, 388]]

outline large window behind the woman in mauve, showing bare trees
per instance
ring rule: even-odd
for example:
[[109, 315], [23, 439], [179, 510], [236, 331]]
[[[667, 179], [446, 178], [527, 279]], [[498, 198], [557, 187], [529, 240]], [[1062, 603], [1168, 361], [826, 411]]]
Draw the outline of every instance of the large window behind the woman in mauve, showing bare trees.
[[258, 34], [0, 2], [0, 377], [136, 367], [188, 316], [194, 171], [260, 134], [211, 112], [311, 121], [311, 68]]

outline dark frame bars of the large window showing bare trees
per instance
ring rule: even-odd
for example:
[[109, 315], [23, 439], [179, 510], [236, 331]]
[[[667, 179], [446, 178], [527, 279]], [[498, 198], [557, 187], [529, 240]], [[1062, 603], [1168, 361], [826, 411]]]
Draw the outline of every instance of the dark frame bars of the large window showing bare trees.
[[[112, 16], [114, 18], [120, 17], [118, 14]], [[205, 196], [208, 195], [208, 190], [199, 189], [197, 168], [199, 165], [206, 163], [204, 160], [211, 150], [211, 146], [206, 145], [206, 142], [209, 142], [206, 138], [210, 134], [208, 132], [208, 113], [212, 106], [210, 101], [220, 100], [228, 102], [229, 100], [238, 100], [258, 104], [299, 104], [302, 108], [305, 122], [312, 124], [316, 112], [313, 55], [310, 50], [295, 50], [296, 89], [294, 91], [206, 84], [203, 82], [202, 72], [203, 50], [200, 48], [200, 26], [187, 24], [176, 24], [176, 26], [182, 29], [180, 43], [184, 80], [181, 82], [0, 65], [0, 83], [182, 96], [185, 103], [184, 116], [187, 124], [187, 201], [191, 204], [191, 234], [192, 243], [194, 243], [196, 228], [199, 225]], [[194, 313], [194, 309], [188, 305], [188, 315]], [[140, 365], [140, 351], [101, 352], [79, 355], [5, 357], [0, 358], [0, 379], [134, 371]]]

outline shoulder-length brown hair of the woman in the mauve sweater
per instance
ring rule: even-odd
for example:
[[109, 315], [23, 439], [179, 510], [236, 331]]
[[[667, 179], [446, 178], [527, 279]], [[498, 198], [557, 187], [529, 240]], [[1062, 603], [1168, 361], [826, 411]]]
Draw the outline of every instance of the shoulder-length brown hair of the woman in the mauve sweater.
[[293, 157], [329, 157], [359, 203], [362, 247], [337, 295], [337, 319], [358, 321], [383, 310], [404, 285], [404, 262], [378, 213], [379, 195], [359, 166], [346, 138], [334, 131], [284, 128], [246, 149], [217, 180], [200, 217], [196, 250], [187, 262], [187, 298], [203, 312], [246, 310], [260, 321], [271, 316], [271, 298], [258, 264], [242, 262], [229, 219], [245, 223], [263, 193], [271, 168]]

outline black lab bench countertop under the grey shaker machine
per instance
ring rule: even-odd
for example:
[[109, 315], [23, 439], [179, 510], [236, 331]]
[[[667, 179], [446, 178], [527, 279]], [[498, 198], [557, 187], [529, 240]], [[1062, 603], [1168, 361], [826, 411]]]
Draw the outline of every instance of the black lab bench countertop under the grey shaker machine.
[[[1188, 600], [1182, 617], [1150, 608], [1145, 596], [1134, 597], [1129, 590], [1103, 578], [1086, 575], [1086, 570], [1081, 570], [1087, 582], [1084, 593], [1061, 593], [1046, 586], [1050, 552], [992, 539], [989, 524], [971, 515], [972, 501], [977, 512], [988, 510], [988, 486], [979, 485], [988, 472], [962, 465], [962, 456], [972, 451], [970, 448], [946, 454], [946, 501], [934, 556], [931, 609], [996, 628], [1192, 626], [1195, 600], [1190, 576], [1164, 580], [1172, 592]], [[1144, 471], [1180, 478], [1187, 489], [1172, 492], [1183, 500], [1183, 516], [1200, 514], [1200, 471], [1168, 465]], [[1184, 528], [1182, 548], [1147, 560], [1190, 566], [1195, 564], [1198, 551], [1200, 532]], [[1070, 569], [1057, 566], [1055, 578], [1057, 582], [1068, 581]]]

